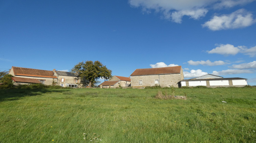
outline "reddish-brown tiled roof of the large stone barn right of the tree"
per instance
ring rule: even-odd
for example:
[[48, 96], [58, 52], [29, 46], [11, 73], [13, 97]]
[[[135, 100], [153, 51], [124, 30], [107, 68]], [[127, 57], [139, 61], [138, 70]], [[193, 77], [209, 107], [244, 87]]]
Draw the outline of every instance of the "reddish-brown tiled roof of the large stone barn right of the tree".
[[159, 67], [159, 68], [141, 68], [136, 69], [131, 76], [159, 75], [159, 74], [180, 74], [181, 66]]

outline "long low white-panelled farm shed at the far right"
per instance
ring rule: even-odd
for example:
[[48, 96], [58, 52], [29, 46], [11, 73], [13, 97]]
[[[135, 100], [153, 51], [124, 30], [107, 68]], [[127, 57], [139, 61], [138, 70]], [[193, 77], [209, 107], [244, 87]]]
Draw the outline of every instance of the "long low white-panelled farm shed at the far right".
[[244, 87], [247, 85], [245, 78], [223, 78], [211, 74], [193, 79], [184, 79], [181, 81], [181, 86], [207, 86], [209, 88], [216, 87]]

